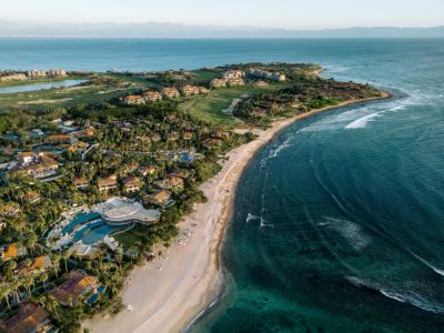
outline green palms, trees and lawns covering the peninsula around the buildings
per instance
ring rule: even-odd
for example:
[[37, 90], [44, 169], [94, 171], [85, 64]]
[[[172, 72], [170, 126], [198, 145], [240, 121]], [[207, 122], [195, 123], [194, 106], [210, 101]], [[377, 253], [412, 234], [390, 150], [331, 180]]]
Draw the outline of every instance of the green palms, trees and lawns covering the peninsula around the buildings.
[[[150, 89], [180, 88], [184, 84], [210, 87], [210, 80], [229, 70], [248, 71], [259, 68], [285, 74], [284, 82], [259, 79], [245, 74], [244, 87], [212, 89], [208, 94], [181, 97], [174, 100], [127, 105], [123, 98], [141, 94]], [[254, 139], [251, 132], [238, 134], [233, 128], [240, 122], [266, 127], [278, 117], [291, 117], [312, 109], [335, 105], [346, 100], [377, 97], [380, 92], [369, 85], [340, 83], [313, 74], [320, 68], [312, 64], [248, 63], [202, 69], [144, 73], [97, 73], [81, 87], [6, 94], [0, 100], [0, 162], [16, 159], [22, 151], [46, 151], [58, 162], [58, 176], [42, 181], [28, 175], [20, 168], [1, 172], [0, 211], [10, 205], [13, 214], [2, 214], [4, 228], [1, 244], [16, 244], [27, 250], [0, 263], [0, 317], [13, 315], [22, 301], [41, 302], [63, 332], [77, 331], [79, 322], [99, 312], [115, 314], [121, 309], [119, 291], [135, 264], [143, 264], [154, 244], [168, 246], [179, 234], [178, 222], [192, 211], [195, 202], [205, 198], [199, 185], [219, 170], [219, 161], [229, 150]], [[224, 112], [239, 99], [233, 118]], [[59, 102], [54, 102], [59, 100]], [[38, 101], [38, 102], [37, 102]], [[241, 120], [240, 120], [241, 119]], [[93, 135], [80, 138], [90, 153], [70, 144], [48, 145], [44, 137], [60, 134], [63, 121], [75, 129], [92, 128]], [[199, 158], [183, 161], [172, 158], [182, 152]], [[152, 167], [143, 174], [140, 169]], [[46, 236], [60, 214], [73, 206], [92, 206], [112, 195], [130, 196], [144, 205], [144, 198], [158, 189], [157, 181], [181, 174], [183, 188], [172, 190], [174, 204], [159, 208], [160, 221], [149, 226], [137, 225], [115, 235], [122, 248], [103, 249], [94, 258], [69, 258], [68, 249], [52, 251], [46, 248]], [[99, 180], [115, 175], [115, 189], [99, 191]], [[77, 178], [88, 180], [89, 188], [77, 189]], [[124, 180], [139, 178], [141, 186], [128, 193]], [[30, 201], [29, 193], [38, 193]], [[32, 259], [50, 256], [49, 271], [17, 275], [20, 266], [30, 266]], [[85, 270], [107, 285], [107, 292], [92, 306], [83, 302], [62, 306], [48, 294], [60, 285], [72, 269]], [[83, 301], [83, 300], [82, 300]], [[11, 304], [9, 304], [11, 303]]]

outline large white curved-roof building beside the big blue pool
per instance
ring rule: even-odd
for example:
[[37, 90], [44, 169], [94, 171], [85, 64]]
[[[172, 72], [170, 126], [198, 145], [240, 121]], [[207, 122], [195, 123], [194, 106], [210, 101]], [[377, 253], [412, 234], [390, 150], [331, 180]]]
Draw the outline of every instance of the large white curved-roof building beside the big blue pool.
[[114, 196], [97, 205], [95, 211], [110, 225], [151, 224], [160, 219], [157, 210], [145, 210], [139, 202]]

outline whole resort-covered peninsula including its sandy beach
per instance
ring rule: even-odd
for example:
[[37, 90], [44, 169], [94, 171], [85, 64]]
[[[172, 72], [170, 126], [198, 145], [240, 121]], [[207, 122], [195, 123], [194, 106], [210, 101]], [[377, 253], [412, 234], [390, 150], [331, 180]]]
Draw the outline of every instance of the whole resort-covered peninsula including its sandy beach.
[[[60, 70], [38, 82], [80, 84], [0, 94], [0, 330], [103, 332], [118, 319], [131, 331], [145, 324], [137, 312], [174, 313], [176, 302], [190, 304], [168, 330], [186, 324], [219, 285], [232, 196], [255, 151], [294, 121], [390, 97], [322, 70]], [[1, 72], [0, 87], [38, 73]], [[162, 283], [176, 289], [168, 306], [143, 294]]]

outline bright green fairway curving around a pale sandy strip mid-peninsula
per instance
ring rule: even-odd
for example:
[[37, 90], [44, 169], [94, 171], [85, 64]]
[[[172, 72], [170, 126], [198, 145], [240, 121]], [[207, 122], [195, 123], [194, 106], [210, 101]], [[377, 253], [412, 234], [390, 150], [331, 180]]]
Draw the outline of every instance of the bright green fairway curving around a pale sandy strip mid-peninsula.
[[270, 89], [270, 87], [222, 88], [213, 90], [205, 97], [196, 95], [180, 103], [179, 108], [204, 121], [215, 124], [236, 125], [239, 121], [224, 112], [231, 105], [233, 99], [239, 99], [243, 94], [254, 95], [266, 89]]

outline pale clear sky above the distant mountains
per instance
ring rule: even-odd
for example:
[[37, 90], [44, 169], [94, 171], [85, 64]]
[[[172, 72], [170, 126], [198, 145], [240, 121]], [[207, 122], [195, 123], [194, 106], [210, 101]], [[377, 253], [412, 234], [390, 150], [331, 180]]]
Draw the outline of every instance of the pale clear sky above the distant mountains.
[[0, 20], [32, 23], [252, 26], [284, 29], [436, 27], [444, 0], [1, 0]]

